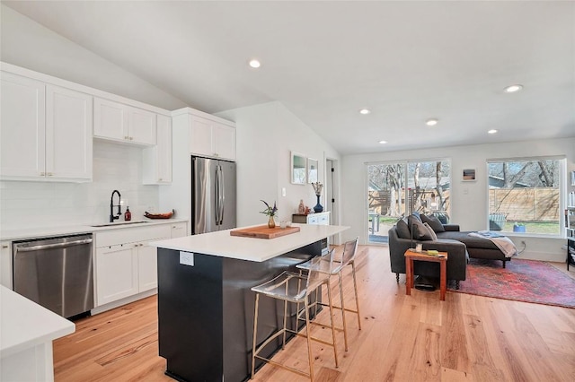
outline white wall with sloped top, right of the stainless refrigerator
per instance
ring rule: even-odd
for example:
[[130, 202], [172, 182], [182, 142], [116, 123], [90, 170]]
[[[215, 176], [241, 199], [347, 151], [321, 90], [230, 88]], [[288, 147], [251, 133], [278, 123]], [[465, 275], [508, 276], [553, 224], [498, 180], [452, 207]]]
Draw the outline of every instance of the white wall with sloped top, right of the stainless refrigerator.
[[[325, 183], [324, 158], [340, 160], [332, 146], [277, 101], [227, 110], [217, 116], [236, 124], [238, 226], [267, 221], [259, 213], [265, 208], [261, 199], [268, 203], [277, 201], [277, 222], [291, 220], [300, 199], [310, 207], [316, 204], [312, 185], [291, 184], [290, 152], [318, 160], [319, 180]], [[281, 195], [284, 187], [285, 197]]]

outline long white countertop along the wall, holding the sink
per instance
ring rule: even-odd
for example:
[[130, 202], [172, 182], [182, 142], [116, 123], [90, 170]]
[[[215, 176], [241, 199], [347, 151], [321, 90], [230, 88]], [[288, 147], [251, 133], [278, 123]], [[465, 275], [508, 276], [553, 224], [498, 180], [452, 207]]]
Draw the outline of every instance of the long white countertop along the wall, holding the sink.
[[[34, 239], [34, 238], [48, 238], [51, 236], [64, 236], [64, 235], [75, 235], [78, 233], [91, 233], [98, 232], [102, 230], [118, 230], [122, 228], [136, 228], [136, 227], [148, 227], [151, 225], [158, 224], [170, 224], [175, 222], [188, 221], [187, 218], [173, 218], [173, 219], [142, 219], [139, 221], [146, 221], [144, 223], [135, 223], [132, 221], [128, 224], [124, 224], [127, 221], [117, 221], [111, 223], [110, 226], [105, 227], [93, 227], [96, 224], [75, 224], [75, 225], [54, 225], [50, 227], [32, 227], [19, 230], [2, 230], [0, 231], [0, 240], [16, 240], [16, 239]], [[99, 223], [106, 224], [106, 223]]]

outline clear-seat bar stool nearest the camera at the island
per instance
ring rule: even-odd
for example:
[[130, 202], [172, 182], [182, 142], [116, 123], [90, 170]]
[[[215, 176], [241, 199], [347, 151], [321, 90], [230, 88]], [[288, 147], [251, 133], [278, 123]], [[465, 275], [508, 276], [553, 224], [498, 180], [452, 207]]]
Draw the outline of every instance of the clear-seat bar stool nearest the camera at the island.
[[[332, 256], [332, 253], [331, 253]], [[253, 343], [252, 343], [252, 379], [255, 373], [255, 359], [264, 360], [274, 366], [277, 366], [282, 369], [287, 369], [292, 371], [296, 374], [301, 376], [310, 378], [312, 382], [314, 381], [314, 357], [312, 356], [312, 345], [311, 341], [316, 341], [318, 343], [323, 343], [325, 345], [329, 345], [333, 347], [333, 356], [335, 357], [335, 367], [339, 367], [338, 364], [338, 352], [337, 347], [335, 346], [335, 331], [333, 328], [333, 317], [332, 317], [332, 309], [330, 308], [330, 317], [332, 321], [331, 329], [332, 329], [332, 342], [324, 341], [320, 338], [313, 337], [310, 332], [310, 318], [309, 318], [309, 296], [312, 292], [316, 291], [320, 288], [323, 284], [327, 285], [328, 290], [328, 300], [330, 301], [330, 305], [332, 302], [332, 293], [330, 288], [330, 276], [329, 274], [318, 272], [318, 268], [320, 266], [320, 262], [322, 259], [318, 257], [314, 257], [310, 261], [309, 273], [307, 276], [303, 276], [297, 273], [291, 272], [284, 272], [279, 274], [276, 278], [270, 280], [269, 282], [264, 282], [261, 285], [257, 285], [252, 287], [252, 291], [255, 292], [255, 313], [253, 318]], [[301, 286], [305, 283], [305, 288], [302, 290]], [[283, 319], [283, 328], [277, 331], [274, 334], [271, 334], [270, 337], [265, 340], [259, 347], [256, 348], [256, 338], [257, 338], [257, 330], [258, 330], [258, 306], [260, 302], [260, 295], [268, 296], [272, 299], [283, 300], [284, 301], [284, 319]], [[301, 334], [297, 331], [297, 324], [298, 320], [296, 320], [296, 330], [289, 329], [287, 327], [287, 317], [288, 317], [288, 302], [296, 303], [297, 307], [299, 304], [303, 303], [305, 308], [305, 334]], [[296, 312], [299, 316], [299, 312]], [[271, 341], [278, 338], [279, 335], [283, 335], [281, 349], [283, 350], [286, 346], [286, 334], [291, 333], [295, 335], [299, 335], [305, 337], [307, 339], [307, 355], [309, 360], [309, 373], [305, 373], [302, 370], [295, 369], [288, 367], [286, 365], [282, 365], [279, 362], [274, 360], [270, 360], [268, 358], [262, 357], [259, 355], [261, 350], [266, 347]]]

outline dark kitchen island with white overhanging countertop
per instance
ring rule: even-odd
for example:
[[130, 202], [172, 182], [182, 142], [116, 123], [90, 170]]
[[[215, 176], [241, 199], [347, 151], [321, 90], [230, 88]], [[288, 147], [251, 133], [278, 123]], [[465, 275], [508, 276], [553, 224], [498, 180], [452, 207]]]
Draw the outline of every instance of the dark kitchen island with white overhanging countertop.
[[[322, 253], [326, 238], [348, 229], [296, 226], [299, 232], [276, 239], [224, 230], [152, 243], [158, 247], [158, 341], [167, 375], [190, 382], [250, 377], [252, 286], [295, 271]], [[282, 325], [282, 317], [283, 304], [261, 301], [258, 343]]]

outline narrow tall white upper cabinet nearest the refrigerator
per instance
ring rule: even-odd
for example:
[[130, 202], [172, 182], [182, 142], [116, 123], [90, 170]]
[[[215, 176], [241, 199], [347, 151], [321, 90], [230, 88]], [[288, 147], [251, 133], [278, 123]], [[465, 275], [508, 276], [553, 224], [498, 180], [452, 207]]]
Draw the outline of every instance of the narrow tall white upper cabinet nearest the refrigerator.
[[172, 117], [158, 114], [156, 144], [144, 149], [145, 185], [172, 183]]

